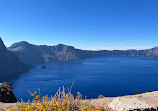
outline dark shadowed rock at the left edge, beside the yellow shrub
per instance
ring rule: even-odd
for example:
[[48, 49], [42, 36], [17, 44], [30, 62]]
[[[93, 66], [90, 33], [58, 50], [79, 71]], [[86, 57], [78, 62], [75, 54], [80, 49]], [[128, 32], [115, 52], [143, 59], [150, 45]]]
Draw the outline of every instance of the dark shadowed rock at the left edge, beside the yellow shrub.
[[17, 99], [13, 93], [13, 87], [11, 83], [0, 83], [0, 102], [3, 103], [15, 103]]

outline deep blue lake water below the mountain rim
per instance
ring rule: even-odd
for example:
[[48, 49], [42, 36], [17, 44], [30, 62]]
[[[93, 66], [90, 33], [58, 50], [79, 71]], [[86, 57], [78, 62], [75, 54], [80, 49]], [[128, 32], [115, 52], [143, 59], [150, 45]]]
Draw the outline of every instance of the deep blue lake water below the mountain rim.
[[41, 64], [28, 73], [10, 80], [20, 101], [31, 99], [30, 91], [54, 95], [63, 85], [87, 98], [98, 95], [121, 96], [158, 90], [158, 59], [142, 57], [100, 57], [74, 61], [53, 61]]

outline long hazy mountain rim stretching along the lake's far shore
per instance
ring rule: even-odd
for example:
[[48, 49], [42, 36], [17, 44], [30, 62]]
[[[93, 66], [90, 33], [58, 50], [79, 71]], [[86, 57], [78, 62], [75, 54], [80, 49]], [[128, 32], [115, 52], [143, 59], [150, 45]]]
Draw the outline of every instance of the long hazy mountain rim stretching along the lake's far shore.
[[99, 56], [142, 56], [158, 58], [158, 47], [147, 50], [80, 50], [72, 46], [58, 44], [55, 46], [33, 45], [22, 41], [13, 44], [8, 50], [14, 52], [22, 61], [30, 64], [52, 60], [77, 60]]

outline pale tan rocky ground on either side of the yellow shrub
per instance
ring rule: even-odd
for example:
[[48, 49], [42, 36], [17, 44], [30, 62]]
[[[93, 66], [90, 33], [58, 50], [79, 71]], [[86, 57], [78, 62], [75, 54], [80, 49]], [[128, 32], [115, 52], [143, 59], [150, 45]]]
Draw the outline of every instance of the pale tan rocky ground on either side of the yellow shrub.
[[[137, 111], [138, 109], [138, 111], [157, 111], [158, 91], [121, 97], [104, 97], [86, 101], [92, 105], [109, 106], [113, 111]], [[17, 103], [0, 103], [0, 108], [3, 109], [16, 106]]]

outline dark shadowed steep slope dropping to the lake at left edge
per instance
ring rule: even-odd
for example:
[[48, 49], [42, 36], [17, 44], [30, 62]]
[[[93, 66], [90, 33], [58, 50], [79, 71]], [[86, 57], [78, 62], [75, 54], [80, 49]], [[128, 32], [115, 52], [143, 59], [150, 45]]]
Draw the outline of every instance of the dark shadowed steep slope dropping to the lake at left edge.
[[0, 80], [18, 76], [30, 68], [31, 66], [21, 62], [13, 52], [8, 51], [0, 38]]

